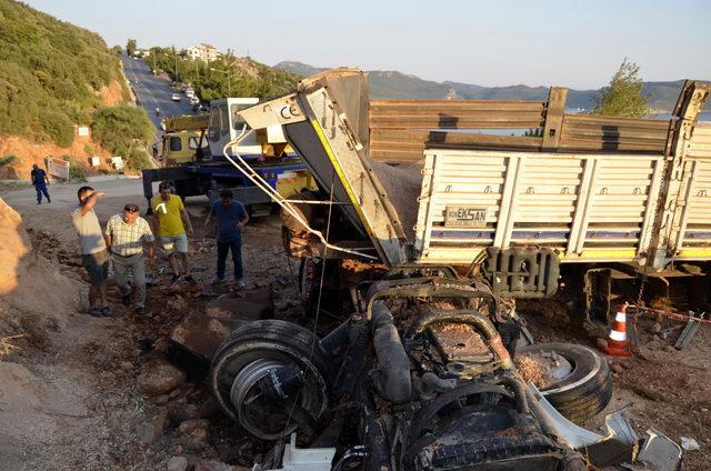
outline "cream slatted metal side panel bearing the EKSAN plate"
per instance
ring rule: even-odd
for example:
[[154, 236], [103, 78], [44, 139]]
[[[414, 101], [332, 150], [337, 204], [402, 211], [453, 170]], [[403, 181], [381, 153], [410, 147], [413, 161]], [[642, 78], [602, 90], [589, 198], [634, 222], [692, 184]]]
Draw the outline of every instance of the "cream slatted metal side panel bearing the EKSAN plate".
[[463, 264], [487, 247], [561, 261], [632, 261], [651, 240], [662, 156], [427, 150], [415, 260]]

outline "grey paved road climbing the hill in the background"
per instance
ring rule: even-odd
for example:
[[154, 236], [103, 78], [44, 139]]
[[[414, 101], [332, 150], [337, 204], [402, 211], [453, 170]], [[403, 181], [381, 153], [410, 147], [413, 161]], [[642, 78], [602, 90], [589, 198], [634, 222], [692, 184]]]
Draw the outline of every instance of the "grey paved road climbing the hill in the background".
[[[160, 121], [166, 117], [194, 113], [188, 98], [174, 90], [168, 80], [154, 77], [143, 59], [133, 60], [122, 54], [121, 61], [127, 79], [156, 128], [160, 130]], [[173, 93], [180, 96], [180, 101], [171, 101]], [[156, 116], [156, 108], [160, 108], [160, 117]]]

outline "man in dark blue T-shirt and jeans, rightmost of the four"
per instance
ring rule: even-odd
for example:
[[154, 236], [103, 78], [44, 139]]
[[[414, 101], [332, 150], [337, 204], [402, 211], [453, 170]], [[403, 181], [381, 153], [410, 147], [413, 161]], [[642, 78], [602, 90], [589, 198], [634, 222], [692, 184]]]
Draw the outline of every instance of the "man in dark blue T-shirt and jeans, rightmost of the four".
[[217, 282], [224, 281], [224, 268], [227, 253], [232, 252], [232, 263], [234, 263], [234, 283], [244, 288], [242, 274], [242, 228], [249, 221], [249, 214], [244, 204], [232, 201], [232, 191], [224, 189], [220, 191], [220, 201], [212, 203], [210, 213], [204, 220], [206, 228], [210, 218], [218, 218], [218, 278]]

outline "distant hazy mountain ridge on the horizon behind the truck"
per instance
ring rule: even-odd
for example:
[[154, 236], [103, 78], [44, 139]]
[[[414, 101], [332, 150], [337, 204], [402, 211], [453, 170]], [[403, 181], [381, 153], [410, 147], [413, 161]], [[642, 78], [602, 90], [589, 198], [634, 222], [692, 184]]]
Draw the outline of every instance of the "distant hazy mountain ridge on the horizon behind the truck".
[[[326, 70], [297, 61], [283, 61], [274, 66], [300, 76], [310, 76]], [[445, 98], [461, 100], [545, 100], [548, 87], [529, 87], [524, 84], [510, 87], [481, 87], [453, 81], [435, 82], [423, 80], [417, 76], [395, 71], [370, 71], [370, 98], [411, 100]], [[644, 82], [643, 93], [650, 94], [650, 107], [659, 111], [670, 111], [679, 97], [683, 80], [669, 82]], [[569, 108], [589, 109], [600, 96], [600, 90], [574, 90], [568, 92]], [[707, 106], [707, 109], [709, 107]]]

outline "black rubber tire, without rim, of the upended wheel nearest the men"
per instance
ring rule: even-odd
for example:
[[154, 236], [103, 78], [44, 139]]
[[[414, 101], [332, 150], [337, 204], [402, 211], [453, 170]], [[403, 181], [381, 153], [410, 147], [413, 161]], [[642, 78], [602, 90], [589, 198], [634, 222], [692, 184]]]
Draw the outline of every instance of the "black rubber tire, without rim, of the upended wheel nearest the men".
[[[230, 399], [238, 373], [257, 360], [273, 360], [297, 365], [304, 374], [301, 407], [318, 419], [329, 405], [331, 365], [319, 339], [304, 328], [281, 320], [250, 322], [234, 330], [220, 345], [210, 365], [210, 388], [224, 413], [239, 422], [239, 413]], [[264, 440], [288, 435], [286, 431], [252, 433]]]

